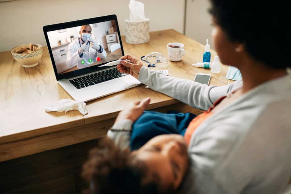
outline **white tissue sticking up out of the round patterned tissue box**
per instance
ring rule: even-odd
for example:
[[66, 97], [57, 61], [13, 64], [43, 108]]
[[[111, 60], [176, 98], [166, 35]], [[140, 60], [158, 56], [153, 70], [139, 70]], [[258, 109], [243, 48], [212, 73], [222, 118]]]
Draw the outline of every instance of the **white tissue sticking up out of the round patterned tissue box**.
[[129, 2], [129, 21], [141, 22], [145, 21], [145, 5], [142, 2], [136, 0], [130, 0]]

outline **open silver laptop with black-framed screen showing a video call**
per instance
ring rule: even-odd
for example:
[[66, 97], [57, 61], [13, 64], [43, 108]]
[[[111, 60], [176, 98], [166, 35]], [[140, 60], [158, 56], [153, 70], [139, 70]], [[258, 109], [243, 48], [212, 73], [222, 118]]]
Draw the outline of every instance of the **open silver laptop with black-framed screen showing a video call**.
[[124, 56], [116, 15], [47, 25], [43, 31], [56, 80], [74, 100], [88, 102], [141, 84], [118, 72], [117, 64], [106, 66]]

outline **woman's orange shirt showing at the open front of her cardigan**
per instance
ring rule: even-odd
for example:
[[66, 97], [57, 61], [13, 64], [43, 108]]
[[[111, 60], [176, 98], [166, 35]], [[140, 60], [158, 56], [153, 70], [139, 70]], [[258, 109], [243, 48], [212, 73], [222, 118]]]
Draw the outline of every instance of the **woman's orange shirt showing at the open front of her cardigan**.
[[[233, 92], [234, 93], [234, 92]], [[194, 131], [197, 129], [197, 127], [203, 122], [205, 121], [208, 117], [210, 117], [213, 112], [212, 109], [219, 104], [226, 96], [223, 96], [221, 98], [219, 98], [216, 102], [214, 102], [213, 106], [211, 106], [207, 111], [204, 111], [202, 114], [198, 115], [197, 117], [195, 117], [190, 124], [188, 125], [185, 135], [184, 135], [184, 139], [186, 140], [187, 145], [189, 145], [190, 143], [190, 139], [192, 134], [194, 133]]]

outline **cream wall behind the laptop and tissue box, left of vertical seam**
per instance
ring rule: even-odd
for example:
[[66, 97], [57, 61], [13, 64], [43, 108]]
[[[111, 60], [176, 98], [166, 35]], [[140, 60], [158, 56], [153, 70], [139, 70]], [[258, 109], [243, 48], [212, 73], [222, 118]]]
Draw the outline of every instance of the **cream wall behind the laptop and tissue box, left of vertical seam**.
[[[140, 0], [150, 31], [175, 29], [183, 33], [183, 0]], [[15, 0], [0, 3], [0, 51], [29, 42], [46, 45], [42, 26], [116, 14], [121, 35], [129, 17], [129, 0]]]

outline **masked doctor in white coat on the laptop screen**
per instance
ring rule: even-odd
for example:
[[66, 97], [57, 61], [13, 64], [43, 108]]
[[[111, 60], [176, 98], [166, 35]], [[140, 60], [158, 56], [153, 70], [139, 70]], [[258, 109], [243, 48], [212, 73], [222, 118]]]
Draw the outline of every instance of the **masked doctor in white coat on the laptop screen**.
[[98, 40], [91, 39], [91, 33], [92, 28], [90, 25], [81, 26], [79, 31], [81, 37], [76, 38], [68, 47], [68, 67], [78, 65], [78, 69], [81, 69], [96, 62], [97, 57], [100, 57], [100, 59], [107, 57], [106, 51]]

